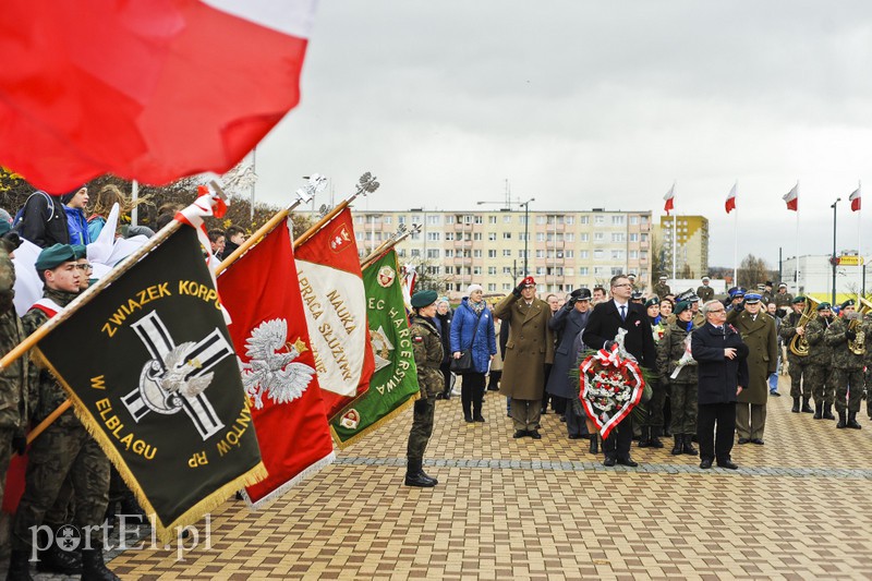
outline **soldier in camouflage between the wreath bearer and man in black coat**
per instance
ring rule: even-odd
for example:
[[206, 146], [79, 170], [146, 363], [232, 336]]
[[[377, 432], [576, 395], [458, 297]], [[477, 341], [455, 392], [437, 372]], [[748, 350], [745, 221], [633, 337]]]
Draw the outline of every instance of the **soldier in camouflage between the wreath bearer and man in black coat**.
[[690, 303], [679, 302], [675, 305], [675, 312], [678, 318], [669, 325], [657, 343], [657, 372], [661, 383], [671, 386], [669, 401], [673, 417], [669, 431], [675, 438], [673, 455], [697, 456], [699, 452], [693, 447], [693, 434], [697, 433], [697, 362], [682, 366], [676, 378], [671, 378], [689, 347], [687, 338], [697, 326], [692, 320]]

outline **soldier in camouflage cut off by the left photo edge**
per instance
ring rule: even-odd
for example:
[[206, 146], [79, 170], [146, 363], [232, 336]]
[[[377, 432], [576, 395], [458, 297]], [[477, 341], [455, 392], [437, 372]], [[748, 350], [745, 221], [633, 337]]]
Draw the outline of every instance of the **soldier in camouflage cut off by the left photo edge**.
[[[8, 222], [2, 221], [7, 225]], [[7, 245], [0, 239], [0, 350], [9, 353], [26, 337], [12, 299], [15, 295], [15, 268]], [[0, 483], [7, 481], [7, 469], [12, 452], [24, 453], [27, 445], [24, 428], [27, 423], [27, 355], [13, 361], [0, 371]], [[0, 485], [0, 504], [3, 503]]]

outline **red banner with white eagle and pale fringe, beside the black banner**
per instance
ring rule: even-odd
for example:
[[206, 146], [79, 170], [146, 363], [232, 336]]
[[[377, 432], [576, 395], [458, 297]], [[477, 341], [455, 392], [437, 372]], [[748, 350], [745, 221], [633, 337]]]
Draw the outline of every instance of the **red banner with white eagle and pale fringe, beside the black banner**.
[[233, 313], [230, 336], [269, 473], [245, 488], [253, 507], [334, 460], [289, 228], [278, 226], [218, 277], [221, 302]]

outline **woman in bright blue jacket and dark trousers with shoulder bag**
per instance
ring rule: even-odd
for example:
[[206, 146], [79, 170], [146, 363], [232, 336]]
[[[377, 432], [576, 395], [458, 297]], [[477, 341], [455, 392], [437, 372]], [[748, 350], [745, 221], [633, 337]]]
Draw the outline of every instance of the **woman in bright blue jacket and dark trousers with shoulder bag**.
[[481, 285], [470, 285], [467, 294], [451, 319], [451, 356], [460, 359], [462, 352], [472, 349], [473, 368], [462, 374], [460, 400], [467, 422], [484, 422], [484, 376], [497, 353], [494, 316], [484, 302]]

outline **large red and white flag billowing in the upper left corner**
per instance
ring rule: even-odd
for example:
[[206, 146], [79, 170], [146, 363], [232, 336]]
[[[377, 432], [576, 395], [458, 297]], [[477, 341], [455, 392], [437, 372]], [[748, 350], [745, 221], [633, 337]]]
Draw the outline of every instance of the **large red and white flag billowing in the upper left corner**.
[[223, 173], [300, 100], [315, 0], [8, 0], [0, 165], [48, 192]]

